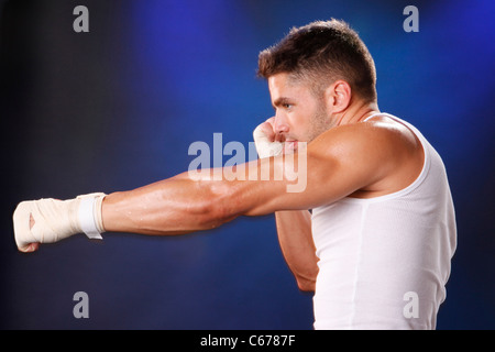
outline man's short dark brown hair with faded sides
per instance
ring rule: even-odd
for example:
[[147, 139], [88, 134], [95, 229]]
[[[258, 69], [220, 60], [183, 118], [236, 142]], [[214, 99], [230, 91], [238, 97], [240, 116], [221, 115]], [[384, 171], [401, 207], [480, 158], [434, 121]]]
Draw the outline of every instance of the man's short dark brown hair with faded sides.
[[348, 23], [332, 19], [293, 28], [277, 44], [260, 53], [257, 76], [287, 73], [306, 79], [316, 94], [338, 79], [364, 99], [376, 100], [376, 69], [358, 33]]

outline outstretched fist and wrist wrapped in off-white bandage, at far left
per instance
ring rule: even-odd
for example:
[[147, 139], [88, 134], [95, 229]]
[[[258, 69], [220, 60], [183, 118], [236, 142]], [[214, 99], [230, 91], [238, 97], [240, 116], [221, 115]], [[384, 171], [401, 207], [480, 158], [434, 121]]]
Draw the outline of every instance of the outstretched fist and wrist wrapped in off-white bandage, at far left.
[[21, 252], [33, 252], [38, 243], [54, 243], [76, 233], [101, 239], [105, 232], [101, 206], [105, 194], [75, 199], [40, 199], [19, 204], [13, 213], [15, 243]]

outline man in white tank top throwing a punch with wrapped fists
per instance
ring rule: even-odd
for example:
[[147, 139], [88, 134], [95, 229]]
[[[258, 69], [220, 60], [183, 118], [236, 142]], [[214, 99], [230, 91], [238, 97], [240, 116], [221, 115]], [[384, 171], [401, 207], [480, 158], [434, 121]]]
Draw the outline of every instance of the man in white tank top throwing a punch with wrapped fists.
[[[80, 232], [173, 235], [275, 212], [287, 264], [299, 288], [315, 292], [316, 329], [433, 329], [457, 243], [449, 184], [421, 133], [380, 112], [364, 43], [342, 21], [314, 22], [262, 52], [258, 74], [275, 116], [254, 131], [250, 177], [183, 173], [108, 196], [22, 202], [19, 250]], [[302, 154], [304, 164], [288, 157]], [[297, 193], [287, 191], [293, 167], [307, 178]], [[262, 179], [262, 169], [283, 177]]]

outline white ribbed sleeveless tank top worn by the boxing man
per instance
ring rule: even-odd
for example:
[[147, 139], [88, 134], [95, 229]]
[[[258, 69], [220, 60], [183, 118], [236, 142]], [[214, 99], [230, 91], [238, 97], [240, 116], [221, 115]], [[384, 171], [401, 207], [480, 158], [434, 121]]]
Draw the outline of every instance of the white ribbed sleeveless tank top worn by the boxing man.
[[399, 191], [312, 209], [315, 329], [435, 329], [446, 299], [457, 228], [442, 160], [415, 127], [376, 116], [408, 127], [425, 164]]

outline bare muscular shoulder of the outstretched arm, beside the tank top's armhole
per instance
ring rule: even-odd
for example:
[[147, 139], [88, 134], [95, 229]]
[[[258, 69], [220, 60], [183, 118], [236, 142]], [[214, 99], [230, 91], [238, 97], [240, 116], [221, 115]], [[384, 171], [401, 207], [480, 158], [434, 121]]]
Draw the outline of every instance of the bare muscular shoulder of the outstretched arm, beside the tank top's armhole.
[[310, 143], [310, 153], [330, 158], [356, 179], [356, 189], [387, 193], [419, 175], [422, 147], [404, 124], [389, 118], [333, 128]]

